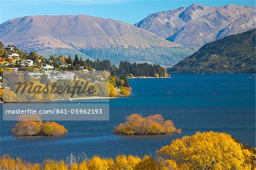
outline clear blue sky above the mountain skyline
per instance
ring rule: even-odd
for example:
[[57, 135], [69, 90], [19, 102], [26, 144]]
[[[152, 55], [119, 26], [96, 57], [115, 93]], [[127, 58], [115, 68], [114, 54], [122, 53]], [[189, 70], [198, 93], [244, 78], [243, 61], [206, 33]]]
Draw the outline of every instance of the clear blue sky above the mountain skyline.
[[147, 15], [164, 10], [173, 10], [177, 7], [187, 7], [193, 3], [207, 6], [225, 6], [226, 4], [255, 6], [255, 1], [129, 1], [129, 0], [0, 0], [0, 23], [12, 18], [26, 15], [67, 15], [86, 14], [102, 18], [112, 18], [134, 24], [146, 18]]

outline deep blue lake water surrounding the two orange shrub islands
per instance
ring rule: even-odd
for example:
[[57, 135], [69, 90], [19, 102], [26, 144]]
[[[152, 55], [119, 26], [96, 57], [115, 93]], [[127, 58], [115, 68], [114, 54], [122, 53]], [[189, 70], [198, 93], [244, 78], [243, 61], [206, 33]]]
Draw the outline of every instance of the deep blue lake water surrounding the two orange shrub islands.
[[[255, 147], [255, 76], [249, 74], [172, 74], [171, 78], [133, 79], [133, 96], [110, 100], [110, 121], [61, 121], [68, 134], [61, 137], [15, 138], [15, 121], [0, 122], [0, 155], [26, 161], [66, 159], [84, 152], [89, 157], [155, 155], [175, 138], [197, 131], [227, 132]], [[171, 94], [167, 92], [171, 91]], [[83, 101], [77, 101], [82, 104]], [[182, 129], [180, 135], [121, 136], [113, 127], [127, 115], [162, 114]]]

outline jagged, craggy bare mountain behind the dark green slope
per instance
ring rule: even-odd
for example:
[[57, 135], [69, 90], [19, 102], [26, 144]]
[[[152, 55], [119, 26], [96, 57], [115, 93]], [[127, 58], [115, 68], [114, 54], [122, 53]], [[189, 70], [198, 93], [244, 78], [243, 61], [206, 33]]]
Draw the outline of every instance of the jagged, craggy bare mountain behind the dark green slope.
[[255, 28], [255, 13], [251, 6], [209, 7], [195, 3], [148, 15], [135, 26], [197, 50], [206, 43]]

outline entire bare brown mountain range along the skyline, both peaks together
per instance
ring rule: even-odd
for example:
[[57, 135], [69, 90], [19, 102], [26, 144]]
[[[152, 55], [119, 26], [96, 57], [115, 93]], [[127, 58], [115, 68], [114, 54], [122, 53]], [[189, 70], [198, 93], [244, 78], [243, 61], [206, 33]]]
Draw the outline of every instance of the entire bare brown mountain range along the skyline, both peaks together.
[[193, 4], [149, 15], [134, 26], [88, 15], [36, 15], [0, 24], [0, 41], [44, 56], [173, 66], [206, 43], [255, 27], [255, 7]]

